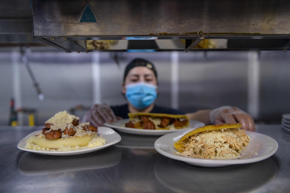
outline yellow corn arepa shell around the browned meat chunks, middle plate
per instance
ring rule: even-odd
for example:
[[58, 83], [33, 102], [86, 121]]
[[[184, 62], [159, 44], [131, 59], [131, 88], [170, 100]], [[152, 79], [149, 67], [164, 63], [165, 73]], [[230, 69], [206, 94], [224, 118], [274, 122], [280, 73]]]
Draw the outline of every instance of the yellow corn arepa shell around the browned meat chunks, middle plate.
[[[189, 118], [186, 115], [172, 115], [172, 114], [165, 114], [165, 113], [128, 113], [128, 117], [130, 118], [130, 120], [133, 120], [135, 118], [139, 118], [140, 116], [148, 116], [150, 118], [162, 118], [162, 117], [166, 117], [166, 118], [174, 118], [174, 119], [186, 119], [187, 123], [182, 126], [182, 127], [175, 127], [175, 129], [182, 129], [185, 128], [189, 125]], [[157, 126], [155, 124], [155, 126]], [[156, 127], [156, 130], [168, 130], [170, 127], [165, 127], [165, 128], [161, 128], [161, 127]], [[137, 129], [143, 129], [143, 127], [138, 127]]]

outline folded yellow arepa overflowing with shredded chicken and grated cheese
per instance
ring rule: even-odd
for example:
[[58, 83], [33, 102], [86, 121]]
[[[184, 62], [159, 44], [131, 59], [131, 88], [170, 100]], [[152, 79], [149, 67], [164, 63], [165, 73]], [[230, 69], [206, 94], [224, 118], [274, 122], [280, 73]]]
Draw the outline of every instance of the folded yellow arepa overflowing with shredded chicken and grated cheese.
[[239, 158], [249, 143], [249, 136], [240, 127], [240, 123], [200, 127], [182, 136], [174, 147], [178, 154], [193, 158]]

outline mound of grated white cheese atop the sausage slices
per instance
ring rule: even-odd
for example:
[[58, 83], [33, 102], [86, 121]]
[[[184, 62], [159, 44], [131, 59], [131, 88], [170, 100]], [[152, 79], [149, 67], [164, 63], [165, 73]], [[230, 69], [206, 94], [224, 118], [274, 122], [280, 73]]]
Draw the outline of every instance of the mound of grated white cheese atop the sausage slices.
[[45, 123], [50, 124], [50, 131], [58, 130], [58, 129], [61, 129], [61, 131], [64, 131], [66, 127], [68, 128], [73, 127], [73, 123], [72, 123], [73, 120], [79, 120], [79, 117], [71, 115], [67, 113], [66, 111], [59, 111], [52, 118], [48, 119]]

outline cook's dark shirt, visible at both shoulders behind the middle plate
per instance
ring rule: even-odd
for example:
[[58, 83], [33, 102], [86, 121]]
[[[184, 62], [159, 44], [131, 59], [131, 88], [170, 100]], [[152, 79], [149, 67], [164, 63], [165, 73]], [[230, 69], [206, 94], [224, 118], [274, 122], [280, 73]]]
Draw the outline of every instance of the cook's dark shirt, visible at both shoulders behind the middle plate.
[[[111, 109], [113, 110], [115, 116], [122, 117], [123, 119], [127, 119], [129, 108], [128, 104], [123, 104], [119, 106], [111, 106]], [[170, 109], [170, 108], [165, 108], [165, 107], [158, 107], [154, 105], [154, 108], [150, 113], [166, 113], [166, 114], [173, 114], [173, 115], [183, 115], [184, 113], [177, 110], [177, 109]]]

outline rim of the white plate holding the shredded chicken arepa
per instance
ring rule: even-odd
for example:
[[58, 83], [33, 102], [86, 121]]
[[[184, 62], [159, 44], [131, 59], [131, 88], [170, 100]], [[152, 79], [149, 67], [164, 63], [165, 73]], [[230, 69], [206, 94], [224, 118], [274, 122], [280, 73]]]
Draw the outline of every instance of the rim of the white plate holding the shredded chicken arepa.
[[[271, 138], [270, 136], [267, 136], [267, 135], [264, 135], [264, 134], [260, 134], [260, 133], [257, 133], [257, 132], [246, 131], [246, 133], [247, 132], [250, 132], [250, 134], [254, 133], [254, 134], [263, 135], [263, 136]], [[180, 135], [177, 132], [171, 133], [171, 134], [166, 134], [166, 135], [173, 135], [173, 134], [176, 135], [175, 137]], [[166, 135], [161, 136], [160, 138], [166, 137]], [[273, 140], [273, 142], [275, 143], [275, 148], [273, 150], [271, 150], [269, 153], [267, 153], [266, 155], [264, 155], [264, 156], [255, 157], [255, 158], [246, 158], [246, 159], [230, 159], [230, 160], [222, 159], [222, 160], [216, 160], [216, 159], [191, 158], [191, 157], [179, 156], [179, 155], [174, 155], [174, 154], [168, 153], [168, 152], [163, 151], [163, 150], [161, 150], [161, 149], [159, 149], [157, 147], [156, 144], [157, 144], [157, 142], [158, 142], [158, 140], [160, 138], [158, 138], [155, 141], [155, 143], [154, 143], [155, 150], [158, 151], [160, 154], [168, 157], [168, 158], [172, 158], [172, 159], [175, 159], [175, 160], [180, 160], [180, 161], [183, 161], [183, 162], [186, 162], [186, 163], [193, 163], [193, 164], [219, 164], [221, 166], [222, 165], [246, 164], [246, 163], [254, 163], [254, 162], [262, 161], [262, 160], [267, 159], [267, 158], [271, 157], [272, 155], [274, 155], [276, 153], [276, 151], [278, 150], [278, 146], [279, 146], [277, 141], [275, 139], [271, 138]], [[172, 138], [172, 140], [173, 140], [173, 138]]]

